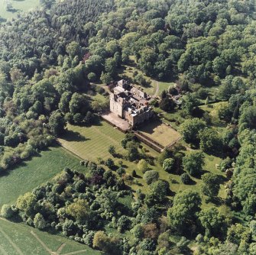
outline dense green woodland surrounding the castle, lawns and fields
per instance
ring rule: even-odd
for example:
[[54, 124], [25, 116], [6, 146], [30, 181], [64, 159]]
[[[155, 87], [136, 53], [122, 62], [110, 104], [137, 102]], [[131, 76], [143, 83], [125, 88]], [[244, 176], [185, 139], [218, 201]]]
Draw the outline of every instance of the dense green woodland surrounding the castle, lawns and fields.
[[[256, 2], [43, 3], [0, 26], [1, 171], [49, 146], [66, 123], [94, 124], [94, 114], [108, 105], [93, 101], [91, 95], [104, 90], [92, 82], [109, 83], [124, 65], [136, 63], [147, 77], [177, 83], [152, 105], [179, 111], [183, 140], [222, 157], [226, 197], [219, 201], [219, 176], [203, 174], [203, 153], [184, 156], [180, 145], [161, 153], [159, 163], [167, 172], [182, 173], [184, 184], [190, 186], [193, 176], [203, 185], [201, 192], [172, 196], [169, 183], [148, 169], [151, 159], [138, 153], [138, 141], [128, 134], [125, 157], [144, 170], [146, 194], [138, 189], [133, 195], [125, 170], [111, 159], [81, 162], [87, 175], [65, 169], [21, 195], [16, 205], [4, 205], [2, 216], [15, 215], [112, 254], [256, 254]], [[147, 86], [144, 75], [135, 73], [132, 82]], [[183, 94], [181, 107], [173, 102], [177, 92]], [[222, 133], [199, 108], [215, 102], [223, 102]], [[109, 153], [116, 157], [115, 147]], [[202, 208], [202, 195], [214, 206]], [[132, 199], [131, 208], [124, 198]], [[109, 234], [109, 228], [121, 234]]]

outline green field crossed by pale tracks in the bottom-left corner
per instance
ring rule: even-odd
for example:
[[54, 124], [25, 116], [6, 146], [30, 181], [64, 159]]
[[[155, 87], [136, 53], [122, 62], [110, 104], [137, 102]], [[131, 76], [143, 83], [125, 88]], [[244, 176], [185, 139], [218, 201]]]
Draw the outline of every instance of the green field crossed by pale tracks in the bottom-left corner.
[[38, 231], [22, 223], [0, 219], [0, 254], [2, 255], [67, 255], [71, 253], [101, 254], [66, 237]]

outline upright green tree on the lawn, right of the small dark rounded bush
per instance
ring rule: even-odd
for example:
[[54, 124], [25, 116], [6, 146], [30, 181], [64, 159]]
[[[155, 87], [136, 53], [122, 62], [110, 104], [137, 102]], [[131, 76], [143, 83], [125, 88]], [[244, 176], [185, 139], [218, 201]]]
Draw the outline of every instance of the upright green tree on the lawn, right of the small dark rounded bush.
[[202, 192], [204, 195], [208, 195], [213, 198], [219, 193], [219, 183], [218, 178], [213, 173], [205, 173], [202, 176]]

